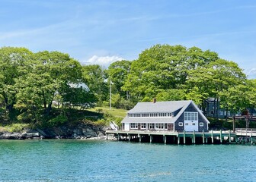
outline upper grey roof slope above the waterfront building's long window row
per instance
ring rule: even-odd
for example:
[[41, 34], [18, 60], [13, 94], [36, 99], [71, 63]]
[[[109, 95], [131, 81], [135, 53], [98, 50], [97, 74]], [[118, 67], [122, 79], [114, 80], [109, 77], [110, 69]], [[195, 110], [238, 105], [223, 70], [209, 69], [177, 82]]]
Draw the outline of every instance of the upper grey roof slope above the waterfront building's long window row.
[[[168, 102], [138, 102], [134, 108], [127, 113], [151, 113], [151, 112], [173, 112], [184, 106], [187, 106], [192, 101], [168, 101]], [[186, 107], [187, 108], [187, 107]]]

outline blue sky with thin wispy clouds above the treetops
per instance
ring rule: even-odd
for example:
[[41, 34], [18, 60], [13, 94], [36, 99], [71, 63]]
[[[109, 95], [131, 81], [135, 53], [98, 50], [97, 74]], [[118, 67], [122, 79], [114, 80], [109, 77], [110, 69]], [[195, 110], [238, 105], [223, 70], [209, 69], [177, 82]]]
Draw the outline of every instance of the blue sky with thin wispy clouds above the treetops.
[[105, 67], [155, 44], [197, 46], [256, 78], [254, 0], [0, 0], [0, 47], [65, 52]]

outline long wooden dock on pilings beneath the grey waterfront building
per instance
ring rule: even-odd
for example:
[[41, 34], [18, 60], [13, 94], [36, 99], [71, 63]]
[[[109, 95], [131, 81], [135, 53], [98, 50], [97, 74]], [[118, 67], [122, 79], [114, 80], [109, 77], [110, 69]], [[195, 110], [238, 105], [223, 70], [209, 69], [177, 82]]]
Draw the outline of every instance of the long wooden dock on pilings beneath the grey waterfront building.
[[250, 143], [256, 144], [256, 129], [236, 128], [232, 130], [208, 130], [206, 132], [159, 131], [159, 130], [107, 130], [117, 140], [139, 143], [165, 143], [165, 144], [222, 144], [222, 143]]

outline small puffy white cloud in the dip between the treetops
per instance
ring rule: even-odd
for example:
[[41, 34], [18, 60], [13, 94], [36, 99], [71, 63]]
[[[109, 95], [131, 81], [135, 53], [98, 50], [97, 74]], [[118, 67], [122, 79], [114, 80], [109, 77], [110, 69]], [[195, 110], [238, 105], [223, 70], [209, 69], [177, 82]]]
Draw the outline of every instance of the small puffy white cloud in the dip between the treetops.
[[85, 64], [99, 64], [103, 67], [108, 67], [111, 63], [115, 62], [115, 61], [121, 61], [124, 58], [121, 58], [117, 55], [113, 55], [113, 56], [98, 56], [98, 55], [94, 55], [91, 58], [89, 58], [88, 61], [84, 61], [83, 63]]

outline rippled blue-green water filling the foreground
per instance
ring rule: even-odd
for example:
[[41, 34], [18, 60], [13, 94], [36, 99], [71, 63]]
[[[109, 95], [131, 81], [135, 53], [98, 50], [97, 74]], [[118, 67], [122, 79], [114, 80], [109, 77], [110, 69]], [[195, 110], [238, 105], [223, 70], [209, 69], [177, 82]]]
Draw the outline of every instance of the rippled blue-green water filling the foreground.
[[256, 181], [256, 148], [0, 140], [0, 181]]

